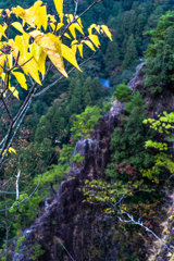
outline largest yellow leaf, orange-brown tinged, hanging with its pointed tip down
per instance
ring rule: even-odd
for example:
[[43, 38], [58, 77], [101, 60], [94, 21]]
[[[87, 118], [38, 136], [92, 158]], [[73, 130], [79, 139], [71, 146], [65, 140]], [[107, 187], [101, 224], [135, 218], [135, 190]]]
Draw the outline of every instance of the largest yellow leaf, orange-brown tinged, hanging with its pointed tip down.
[[55, 65], [55, 67], [65, 76], [67, 74], [64, 70], [62, 53], [61, 53], [61, 41], [58, 36], [51, 35], [48, 33], [44, 36], [37, 36], [35, 38], [38, 46], [47, 53], [49, 59]]

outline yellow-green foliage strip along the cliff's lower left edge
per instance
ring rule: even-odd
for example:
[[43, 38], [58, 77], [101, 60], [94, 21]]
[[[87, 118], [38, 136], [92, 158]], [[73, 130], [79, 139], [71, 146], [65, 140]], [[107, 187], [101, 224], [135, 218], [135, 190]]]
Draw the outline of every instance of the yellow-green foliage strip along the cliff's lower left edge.
[[[18, 201], [15, 201], [13, 208], [10, 210], [10, 213], [16, 214], [13, 224], [15, 229], [20, 229], [21, 225], [26, 226], [30, 224], [40, 211], [40, 201], [55, 194], [61, 182], [65, 178], [65, 173], [69, 171], [70, 167], [67, 164], [51, 165], [49, 171], [42, 175], [37, 175], [34, 181], [28, 184], [29, 191], [20, 195]], [[34, 189], [36, 191], [33, 197], [30, 197], [29, 192], [34, 191]], [[24, 202], [18, 204], [18, 202], [22, 201]]]

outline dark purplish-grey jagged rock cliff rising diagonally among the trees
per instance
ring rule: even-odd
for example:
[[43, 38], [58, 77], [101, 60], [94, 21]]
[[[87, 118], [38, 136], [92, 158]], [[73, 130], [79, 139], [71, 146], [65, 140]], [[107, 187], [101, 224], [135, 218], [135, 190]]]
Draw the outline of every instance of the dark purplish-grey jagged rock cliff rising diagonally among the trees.
[[[144, 65], [137, 66], [136, 75], [128, 85], [133, 91], [144, 88]], [[154, 97], [150, 99], [156, 100]], [[150, 99], [147, 99], [147, 104]], [[165, 103], [163, 96], [159, 103], [162, 104], [160, 111]], [[38, 253], [36, 259], [40, 261], [119, 260], [117, 247], [121, 246], [115, 245], [113, 239], [115, 222], [101, 213], [101, 206], [83, 202], [84, 196], [78, 188], [86, 179], [104, 176], [104, 169], [111, 161], [111, 134], [120, 124], [120, 113], [124, 113], [124, 107], [114, 102], [111, 111], [99, 120], [92, 138], [80, 139], [76, 144], [74, 153], [80, 153], [85, 160], [80, 165], [73, 164], [70, 178], [61, 184], [57, 196], [42, 202], [45, 210], [25, 229], [26, 240], [20, 253], [13, 254], [13, 261], [30, 261], [32, 256], [36, 257], [40, 250], [44, 254]]]

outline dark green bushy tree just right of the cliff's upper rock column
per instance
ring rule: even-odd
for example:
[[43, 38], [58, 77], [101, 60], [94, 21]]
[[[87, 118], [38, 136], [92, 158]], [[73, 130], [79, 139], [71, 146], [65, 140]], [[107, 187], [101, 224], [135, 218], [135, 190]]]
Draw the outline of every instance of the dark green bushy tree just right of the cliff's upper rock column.
[[[134, 103], [134, 99], [137, 99], [138, 102]], [[153, 163], [150, 149], [145, 149], [145, 141], [154, 136], [154, 130], [146, 129], [142, 124], [146, 117], [144, 102], [145, 100], [140, 98], [139, 94], [135, 94], [135, 97], [127, 103], [129, 116], [124, 116], [122, 125], [114, 129], [111, 139], [112, 163], [107, 169], [109, 176], [127, 181], [127, 175], [120, 175], [120, 173], [115, 172], [116, 165], [126, 162], [135, 167], [136, 175], [134, 178], [139, 179], [141, 177], [141, 167], [149, 167]], [[141, 104], [140, 108], [139, 104]]]

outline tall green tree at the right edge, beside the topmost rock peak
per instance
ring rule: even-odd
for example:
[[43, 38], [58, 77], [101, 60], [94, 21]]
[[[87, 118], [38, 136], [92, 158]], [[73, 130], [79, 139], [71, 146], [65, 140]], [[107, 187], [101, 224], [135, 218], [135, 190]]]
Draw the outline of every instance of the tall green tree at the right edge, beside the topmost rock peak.
[[145, 87], [151, 92], [161, 92], [163, 86], [172, 88], [174, 79], [174, 12], [169, 11], [161, 16], [157, 29], [149, 32], [152, 42], [146, 51], [146, 79]]

